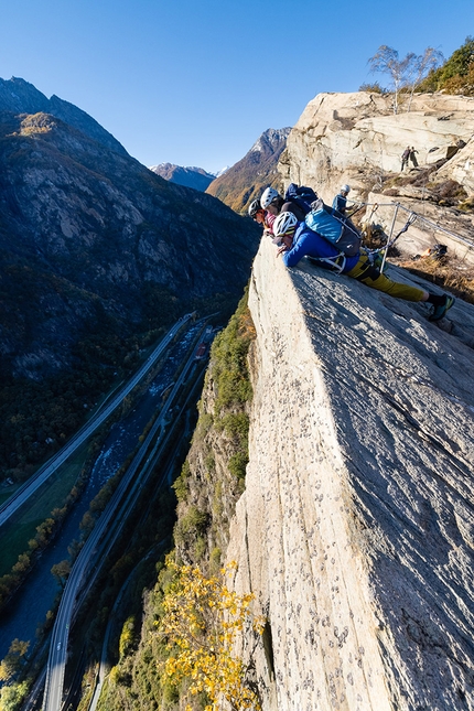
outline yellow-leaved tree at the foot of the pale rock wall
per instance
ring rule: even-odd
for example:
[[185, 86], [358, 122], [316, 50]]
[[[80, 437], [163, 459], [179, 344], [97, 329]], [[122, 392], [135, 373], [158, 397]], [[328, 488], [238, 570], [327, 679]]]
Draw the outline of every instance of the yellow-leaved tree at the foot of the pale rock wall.
[[[184, 681], [187, 694], [205, 694], [211, 701], [205, 711], [216, 711], [223, 699], [234, 711], [258, 711], [258, 689], [249, 672], [265, 621], [249, 610], [252, 594], [228, 590], [226, 575], [236, 564], [212, 578], [192, 565], [169, 562], [168, 568], [173, 571], [173, 582], [164, 594], [164, 615], [155, 623], [170, 653], [159, 662], [163, 680], [173, 687]], [[254, 643], [247, 664], [236, 654], [243, 638]], [[192, 711], [191, 704], [185, 709]]]

